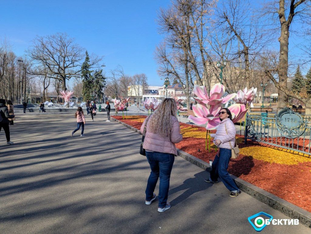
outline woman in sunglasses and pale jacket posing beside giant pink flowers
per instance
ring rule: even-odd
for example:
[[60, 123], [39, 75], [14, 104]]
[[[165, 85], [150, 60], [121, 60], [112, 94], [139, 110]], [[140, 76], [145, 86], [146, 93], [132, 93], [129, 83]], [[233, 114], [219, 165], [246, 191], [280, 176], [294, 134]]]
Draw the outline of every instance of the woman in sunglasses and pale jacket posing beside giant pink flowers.
[[226, 188], [230, 190], [230, 197], [236, 197], [241, 191], [227, 171], [231, 149], [235, 143], [235, 126], [228, 108], [222, 108], [218, 114], [221, 122], [217, 126], [216, 133], [211, 134], [211, 137], [214, 138], [213, 142], [219, 147], [219, 151], [214, 158], [210, 178], [205, 182], [218, 183], [220, 177]]

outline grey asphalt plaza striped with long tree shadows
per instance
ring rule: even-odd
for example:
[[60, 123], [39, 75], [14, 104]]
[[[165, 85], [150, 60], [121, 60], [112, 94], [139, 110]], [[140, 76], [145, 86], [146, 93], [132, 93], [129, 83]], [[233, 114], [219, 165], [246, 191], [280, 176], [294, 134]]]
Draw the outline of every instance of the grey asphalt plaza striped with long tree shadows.
[[[139, 154], [141, 135], [105, 122], [105, 112], [94, 119], [86, 116], [85, 137], [81, 129], [70, 136], [74, 113], [19, 113], [11, 146], [1, 131], [0, 233], [256, 233], [249, 216], [289, 218], [243, 192], [229, 197], [181, 157], [171, 174], [172, 207], [159, 213], [158, 199], [145, 205], [150, 167]], [[302, 224], [262, 231], [310, 232]]]

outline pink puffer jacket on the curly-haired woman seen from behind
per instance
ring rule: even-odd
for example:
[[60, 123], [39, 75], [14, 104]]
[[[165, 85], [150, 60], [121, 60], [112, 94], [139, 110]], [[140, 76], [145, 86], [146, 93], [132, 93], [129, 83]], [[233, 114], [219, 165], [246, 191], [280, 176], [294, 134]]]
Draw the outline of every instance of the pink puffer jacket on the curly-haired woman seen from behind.
[[[177, 149], [175, 147], [175, 143], [179, 143], [183, 139], [183, 136], [180, 134], [180, 127], [179, 127], [178, 119], [172, 116], [173, 129], [171, 130], [170, 136], [164, 137], [159, 134], [149, 132], [150, 118], [152, 118], [152, 116], [149, 117], [149, 120], [147, 123], [143, 148], [149, 151], [171, 153], [171, 154], [177, 155]], [[144, 132], [145, 123], [146, 123], [146, 119], [140, 128], [140, 131], [142, 133]]]

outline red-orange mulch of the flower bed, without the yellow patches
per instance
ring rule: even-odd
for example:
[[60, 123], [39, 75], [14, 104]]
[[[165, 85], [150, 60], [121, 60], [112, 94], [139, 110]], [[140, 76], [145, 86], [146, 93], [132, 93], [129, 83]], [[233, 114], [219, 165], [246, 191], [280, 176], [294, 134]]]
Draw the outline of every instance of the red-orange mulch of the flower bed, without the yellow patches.
[[[123, 119], [122, 116], [113, 117], [137, 129], [140, 129], [143, 119], [146, 118], [143, 115], [128, 116], [128, 119]], [[191, 126], [183, 123], [180, 123], [180, 125], [182, 128]], [[193, 127], [195, 127], [196, 132], [207, 131], [205, 128], [195, 125]], [[265, 146], [271, 147], [270, 145], [252, 142], [250, 140], [247, 141], [247, 145], [244, 145], [244, 136], [237, 136], [243, 138], [238, 140], [240, 142], [239, 148], [241, 149], [252, 147], [253, 152], [256, 153], [256, 150], [259, 149], [256, 149], [256, 147], [261, 147], [261, 149]], [[297, 143], [297, 139], [294, 140], [294, 144]], [[298, 144], [301, 146], [302, 141], [299, 141]], [[214, 148], [211, 148], [211, 152], [205, 149], [205, 138], [195, 138], [195, 136], [186, 137], [183, 138], [182, 142], [176, 144], [176, 147], [206, 162], [213, 160], [216, 155]], [[278, 157], [278, 155], [273, 155], [273, 157]], [[295, 157], [303, 156], [295, 155]], [[311, 212], [311, 159], [305, 162], [298, 162], [295, 165], [287, 165], [258, 160], [248, 155], [240, 155], [238, 159], [230, 160], [228, 171], [259, 188]]]

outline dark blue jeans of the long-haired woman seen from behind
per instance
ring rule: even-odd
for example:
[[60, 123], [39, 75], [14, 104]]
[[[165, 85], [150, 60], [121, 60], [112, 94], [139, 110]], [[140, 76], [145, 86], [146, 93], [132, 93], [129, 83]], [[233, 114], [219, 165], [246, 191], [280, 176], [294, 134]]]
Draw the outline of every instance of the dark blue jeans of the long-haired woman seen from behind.
[[150, 201], [152, 199], [156, 183], [158, 182], [158, 178], [160, 176], [159, 207], [163, 208], [166, 206], [167, 202], [167, 196], [169, 193], [169, 178], [171, 176], [175, 156], [174, 154], [169, 153], [146, 151], [146, 157], [151, 168], [146, 188], [146, 200]]

